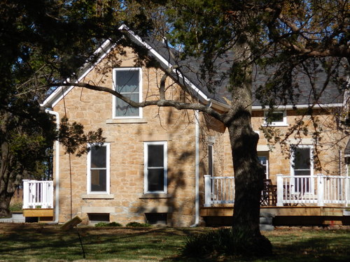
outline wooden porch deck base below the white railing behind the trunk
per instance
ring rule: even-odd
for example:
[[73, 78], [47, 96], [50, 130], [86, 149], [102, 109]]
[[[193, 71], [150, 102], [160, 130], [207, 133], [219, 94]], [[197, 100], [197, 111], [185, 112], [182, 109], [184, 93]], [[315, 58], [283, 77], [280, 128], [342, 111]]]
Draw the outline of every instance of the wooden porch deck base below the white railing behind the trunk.
[[[261, 217], [273, 217], [274, 226], [350, 225], [350, 212], [344, 207], [283, 206], [261, 207]], [[230, 225], [233, 207], [201, 208], [200, 215], [209, 225]]]

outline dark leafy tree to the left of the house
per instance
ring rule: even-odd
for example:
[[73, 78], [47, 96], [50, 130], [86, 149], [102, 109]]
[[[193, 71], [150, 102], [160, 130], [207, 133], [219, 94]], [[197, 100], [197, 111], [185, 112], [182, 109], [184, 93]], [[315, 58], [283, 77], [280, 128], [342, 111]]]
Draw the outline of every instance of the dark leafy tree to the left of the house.
[[[9, 215], [13, 192], [47, 161], [57, 139], [54, 119], [39, 105], [50, 92], [48, 83], [66, 79], [94, 59], [104, 23], [99, 5], [88, 2], [0, 1], [0, 217]], [[85, 142], [101, 138], [100, 132], [81, 137], [81, 126], [69, 125], [59, 136], [67, 148], [76, 146], [66, 139], [67, 131], [80, 133]]]

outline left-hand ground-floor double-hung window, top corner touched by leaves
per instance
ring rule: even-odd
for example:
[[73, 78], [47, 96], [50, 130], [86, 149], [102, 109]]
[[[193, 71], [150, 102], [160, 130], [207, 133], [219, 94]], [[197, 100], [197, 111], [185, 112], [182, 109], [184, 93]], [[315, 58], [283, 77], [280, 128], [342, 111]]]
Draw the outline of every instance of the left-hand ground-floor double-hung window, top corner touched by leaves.
[[87, 154], [87, 194], [109, 194], [109, 144]]

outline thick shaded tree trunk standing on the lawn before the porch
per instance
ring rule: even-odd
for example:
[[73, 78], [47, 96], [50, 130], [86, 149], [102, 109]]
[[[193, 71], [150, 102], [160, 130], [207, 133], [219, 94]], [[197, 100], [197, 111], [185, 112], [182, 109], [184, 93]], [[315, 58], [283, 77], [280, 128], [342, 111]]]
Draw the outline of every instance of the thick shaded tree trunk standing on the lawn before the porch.
[[272, 245], [260, 233], [260, 197], [264, 170], [258, 162], [259, 136], [251, 126], [252, 70], [251, 52], [247, 43], [234, 48], [231, 110], [224, 123], [230, 133], [235, 171], [235, 206], [233, 233], [235, 254], [272, 254]]

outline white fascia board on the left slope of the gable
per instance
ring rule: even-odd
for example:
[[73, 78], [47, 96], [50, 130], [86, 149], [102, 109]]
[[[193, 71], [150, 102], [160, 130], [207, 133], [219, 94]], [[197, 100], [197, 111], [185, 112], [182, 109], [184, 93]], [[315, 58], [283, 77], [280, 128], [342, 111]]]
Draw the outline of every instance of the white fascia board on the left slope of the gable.
[[[110, 47], [105, 50], [106, 47], [108, 47], [110, 45]], [[82, 75], [80, 75], [80, 77], [78, 78], [78, 80], [76, 80], [75, 82], [80, 82], [83, 78], [85, 78], [85, 76], [90, 73], [90, 71], [92, 71], [92, 69], [94, 68], [94, 66], [96, 66], [97, 64], [99, 64], [99, 62], [104, 59], [104, 57], [106, 57], [107, 54], [109, 54], [109, 52], [111, 52], [112, 48], [114, 48], [115, 45], [111, 45], [111, 41], [106, 40], [104, 41], [104, 43], [101, 45], [101, 47], [99, 47], [94, 54], [99, 54], [102, 53], [102, 56], [99, 57], [99, 59], [97, 59], [97, 61], [92, 64], [92, 66], [88, 67], [85, 69], [85, 71], [83, 71]], [[87, 64], [85, 64], [85, 66], [87, 66]], [[85, 67], [83, 66], [83, 67]], [[68, 82], [68, 80], [67, 80]], [[50, 107], [53, 108], [55, 105], [57, 105], [57, 103], [59, 101], [61, 101], [61, 99], [63, 99], [64, 96], [66, 96], [66, 94], [68, 94], [71, 89], [73, 89], [73, 85], [70, 87], [58, 87], [57, 89], [55, 89], [54, 92], [52, 92], [52, 94], [50, 94], [50, 96], [48, 96], [47, 99], [45, 99], [45, 101], [43, 101], [43, 103], [41, 103], [40, 105], [43, 107]]]

